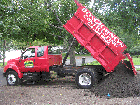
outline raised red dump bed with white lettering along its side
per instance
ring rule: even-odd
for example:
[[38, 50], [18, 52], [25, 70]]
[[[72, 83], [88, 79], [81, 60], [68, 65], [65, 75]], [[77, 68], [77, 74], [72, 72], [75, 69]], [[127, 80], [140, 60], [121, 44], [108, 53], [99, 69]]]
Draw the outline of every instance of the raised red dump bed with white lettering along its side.
[[[107, 72], [111, 72], [126, 55], [126, 45], [99, 19], [76, 1], [77, 12], [64, 28], [84, 46]], [[133, 61], [132, 61], [133, 63]], [[135, 68], [134, 68], [135, 69]]]

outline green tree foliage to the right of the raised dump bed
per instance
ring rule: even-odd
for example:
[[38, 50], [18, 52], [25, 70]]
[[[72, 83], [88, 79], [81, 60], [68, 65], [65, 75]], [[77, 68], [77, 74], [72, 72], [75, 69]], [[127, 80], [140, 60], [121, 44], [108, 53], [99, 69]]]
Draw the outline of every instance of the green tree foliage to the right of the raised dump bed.
[[140, 39], [138, 35], [140, 1], [101, 0], [100, 2], [96, 1], [96, 3], [98, 3], [95, 6], [96, 10], [102, 10], [96, 17], [127, 45], [127, 51], [138, 46]]

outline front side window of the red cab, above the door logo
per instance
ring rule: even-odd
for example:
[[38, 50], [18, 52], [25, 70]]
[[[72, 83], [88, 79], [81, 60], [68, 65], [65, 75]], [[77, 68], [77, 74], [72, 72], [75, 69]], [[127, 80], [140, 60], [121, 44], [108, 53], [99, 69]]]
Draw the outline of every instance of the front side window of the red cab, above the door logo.
[[29, 48], [22, 54], [23, 59], [35, 57], [35, 48]]

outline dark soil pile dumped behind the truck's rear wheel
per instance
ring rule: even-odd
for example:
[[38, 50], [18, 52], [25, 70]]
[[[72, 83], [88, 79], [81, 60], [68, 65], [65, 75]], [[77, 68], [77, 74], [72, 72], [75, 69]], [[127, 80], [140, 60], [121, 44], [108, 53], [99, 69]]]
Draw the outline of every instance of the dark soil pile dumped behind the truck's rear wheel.
[[[114, 72], [91, 89], [96, 96], [136, 97], [140, 96], [140, 76], [131, 76], [124, 64], [119, 63]], [[108, 94], [109, 93], [109, 94]]]

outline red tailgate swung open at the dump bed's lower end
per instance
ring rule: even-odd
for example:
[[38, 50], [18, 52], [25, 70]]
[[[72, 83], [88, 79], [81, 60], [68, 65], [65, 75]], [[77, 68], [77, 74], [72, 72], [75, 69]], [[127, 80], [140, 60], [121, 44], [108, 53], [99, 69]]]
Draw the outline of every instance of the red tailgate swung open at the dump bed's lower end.
[[128, 57], [129, 61], [122, 60], [122, 63], [126, 66], [127, 72], [130, 73], [132, 76], [137, 75], [137, 71], [134, 67], [132, 57], [130, 56], [129, 53], [126, 53], [125, 55]]

